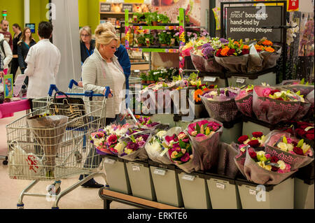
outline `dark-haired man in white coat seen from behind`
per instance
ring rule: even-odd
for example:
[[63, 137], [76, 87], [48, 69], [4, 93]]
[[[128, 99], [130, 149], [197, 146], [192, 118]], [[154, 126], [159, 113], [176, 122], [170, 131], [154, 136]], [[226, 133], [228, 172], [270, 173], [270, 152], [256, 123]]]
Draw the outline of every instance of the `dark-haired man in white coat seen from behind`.
[[28, 99], [38, 99], [48, 95], [50, 85], [56, 84], [55, 78], [61, 58], [59, 49], [49, 41], [52, 35], [52, 24], [39, 23], [37, 34], [40, 41], [29, 48], [25, 59], [27, 63], [25, 75], [29, 76]]

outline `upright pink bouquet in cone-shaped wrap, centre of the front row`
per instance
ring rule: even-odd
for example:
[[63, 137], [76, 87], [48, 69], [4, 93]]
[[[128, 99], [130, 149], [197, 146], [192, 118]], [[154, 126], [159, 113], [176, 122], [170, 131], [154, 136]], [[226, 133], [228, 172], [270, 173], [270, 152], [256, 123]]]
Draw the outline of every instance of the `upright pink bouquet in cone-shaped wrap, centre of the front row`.
[[186, 131], [193, 148], [200, 154], [202, 171], [216, 167], [218, 164], [218, 143], [223, 133], [223, 124], [214, 119], [195, 120]]

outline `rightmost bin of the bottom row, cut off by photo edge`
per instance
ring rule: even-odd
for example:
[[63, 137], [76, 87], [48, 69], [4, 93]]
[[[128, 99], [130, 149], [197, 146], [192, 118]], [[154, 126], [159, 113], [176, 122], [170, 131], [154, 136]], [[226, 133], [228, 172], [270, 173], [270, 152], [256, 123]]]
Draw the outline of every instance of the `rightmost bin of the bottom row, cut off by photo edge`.
[[294, 208], [314, 209], [314, 160], [295, 173]]

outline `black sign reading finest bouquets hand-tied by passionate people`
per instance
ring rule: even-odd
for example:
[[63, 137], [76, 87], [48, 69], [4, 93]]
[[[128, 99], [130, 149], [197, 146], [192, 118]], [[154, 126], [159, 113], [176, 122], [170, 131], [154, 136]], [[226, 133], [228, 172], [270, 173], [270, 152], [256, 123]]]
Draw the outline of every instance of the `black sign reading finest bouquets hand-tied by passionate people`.
[[260, 39], [281, 42], [281, 29], [262, 27], [281, 26], [281, 6], [227, 7], [226, 37]]

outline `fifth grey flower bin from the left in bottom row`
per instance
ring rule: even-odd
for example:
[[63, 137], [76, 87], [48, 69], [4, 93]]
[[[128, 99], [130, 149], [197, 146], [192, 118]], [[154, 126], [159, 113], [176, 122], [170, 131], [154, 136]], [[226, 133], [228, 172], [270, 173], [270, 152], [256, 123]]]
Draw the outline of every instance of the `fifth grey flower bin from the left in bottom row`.
[[215, 173], [206, 173], [205, 177], [213, 209], [241, 209], [235, 179]]

